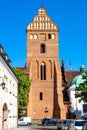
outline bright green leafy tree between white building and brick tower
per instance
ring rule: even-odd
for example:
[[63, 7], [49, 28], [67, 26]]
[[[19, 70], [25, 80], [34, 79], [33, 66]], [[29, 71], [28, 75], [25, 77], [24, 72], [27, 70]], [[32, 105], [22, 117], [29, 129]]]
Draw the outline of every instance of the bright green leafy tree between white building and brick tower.
[[28, 103], [28, 93], [31, 85], [31, 80], [24, 73], [24, 71], [13, 68], [14, 73], [16, 74], [19, 84], [18, 84], [18, 115], [23, 115], [23, 109]]

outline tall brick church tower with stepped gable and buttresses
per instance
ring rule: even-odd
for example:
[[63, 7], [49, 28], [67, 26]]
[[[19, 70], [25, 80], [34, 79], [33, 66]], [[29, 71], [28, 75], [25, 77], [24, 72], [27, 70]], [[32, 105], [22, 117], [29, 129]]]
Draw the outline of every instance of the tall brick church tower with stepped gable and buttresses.
[[66, 112], [58, 55], [58, 27], [41, 7], [26, 33], [26, 69], [32, 79], [27, 116], [33, 119], [64, 119]]

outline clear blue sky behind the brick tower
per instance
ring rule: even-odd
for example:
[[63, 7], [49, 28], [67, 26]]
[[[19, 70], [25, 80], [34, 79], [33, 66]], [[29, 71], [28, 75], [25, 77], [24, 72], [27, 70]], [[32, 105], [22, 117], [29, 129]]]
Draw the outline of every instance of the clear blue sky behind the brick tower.
[[59, 27], [60, 64], [66, 69], [87, 69], [87, 0], [0, 0], [0, 43], [12, 66], [26, 63], [26, 27], [33, 21], [41, 3]]

